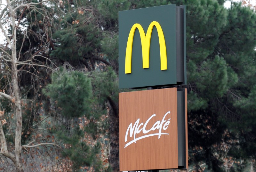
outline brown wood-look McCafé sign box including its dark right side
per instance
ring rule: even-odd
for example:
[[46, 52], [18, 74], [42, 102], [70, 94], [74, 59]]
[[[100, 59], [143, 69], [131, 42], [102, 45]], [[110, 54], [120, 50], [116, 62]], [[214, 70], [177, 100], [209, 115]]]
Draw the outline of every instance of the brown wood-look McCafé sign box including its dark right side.
[[119, 93], [120, 171], [188, 168], [186, 96], [187, 89], [177, 88]]

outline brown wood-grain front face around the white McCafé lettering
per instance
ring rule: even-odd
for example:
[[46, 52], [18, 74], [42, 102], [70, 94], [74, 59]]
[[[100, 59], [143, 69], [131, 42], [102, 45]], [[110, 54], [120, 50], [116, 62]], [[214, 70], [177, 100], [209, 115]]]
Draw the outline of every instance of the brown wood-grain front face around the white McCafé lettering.
[[[125, 147], [125, 144], [134, 140], [134, 132], [130, 137], [129, 131], [125, 141], [125, 134], [131, 123], [134, 125], [139, 119], [139, 125], [145, 125], [148, 118], [156, 114], [147, 124], [146, 130], [150, 130], [157, 121], [161, 123], [168, 111], [170, 114], [166, 115], [165, 120], [171, 118], [170, 124], [161, 133], [169, 135], [161, 135], [160, 138], [158, 135], [150, 136]], [[155, 133], [159, 133], [159, 130], [146, 134], [140, 131], [135, 138]], [[119, 149], [120, 171], [178, 168], [176, 88], [119, 93]]]

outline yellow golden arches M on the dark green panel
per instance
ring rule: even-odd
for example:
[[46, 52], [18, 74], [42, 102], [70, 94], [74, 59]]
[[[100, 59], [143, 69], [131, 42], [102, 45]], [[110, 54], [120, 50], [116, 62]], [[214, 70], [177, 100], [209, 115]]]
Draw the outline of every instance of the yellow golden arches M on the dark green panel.
[[125, 54], [125, 74], [132, 73], [132, 41], [133, 41], [133, 36], [136, 28], [138, 28], [140, 32], [140, 41], [141, 41], [141, 49], [142, 49], [142, 67], [149, 68], [150, 39], [151, 39], [151, 34], [154, 26], [156, 26], [156, 29], [158, 32], [161, 70], [167, 69], [167, 57], [166, 57], [164, 33], [159, 23], [156, 21], [151, 22], [150, 25], [148, 26], [146, 35], [142, 26], [136, 23], [132, 26], [132, 29], [129, 33], [129, 37], [127, 41], [126, 54]]

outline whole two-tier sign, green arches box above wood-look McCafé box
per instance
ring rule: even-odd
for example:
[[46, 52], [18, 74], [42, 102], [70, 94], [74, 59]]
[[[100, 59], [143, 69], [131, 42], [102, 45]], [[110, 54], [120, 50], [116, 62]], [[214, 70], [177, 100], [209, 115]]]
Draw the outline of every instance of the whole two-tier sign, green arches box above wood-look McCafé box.
[[120, 171], [188, 168], [185, 6], [119, 12]]

